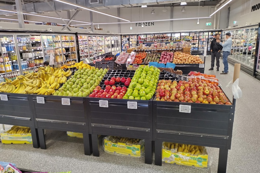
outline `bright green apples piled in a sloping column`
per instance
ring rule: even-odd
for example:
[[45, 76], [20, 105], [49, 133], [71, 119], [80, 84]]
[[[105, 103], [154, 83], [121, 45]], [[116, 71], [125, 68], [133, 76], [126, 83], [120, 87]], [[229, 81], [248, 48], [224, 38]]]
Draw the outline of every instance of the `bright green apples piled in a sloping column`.
[[160, 70], [154, 66], [139, 66], [123, 99], [150, 100], [157, 86]]

